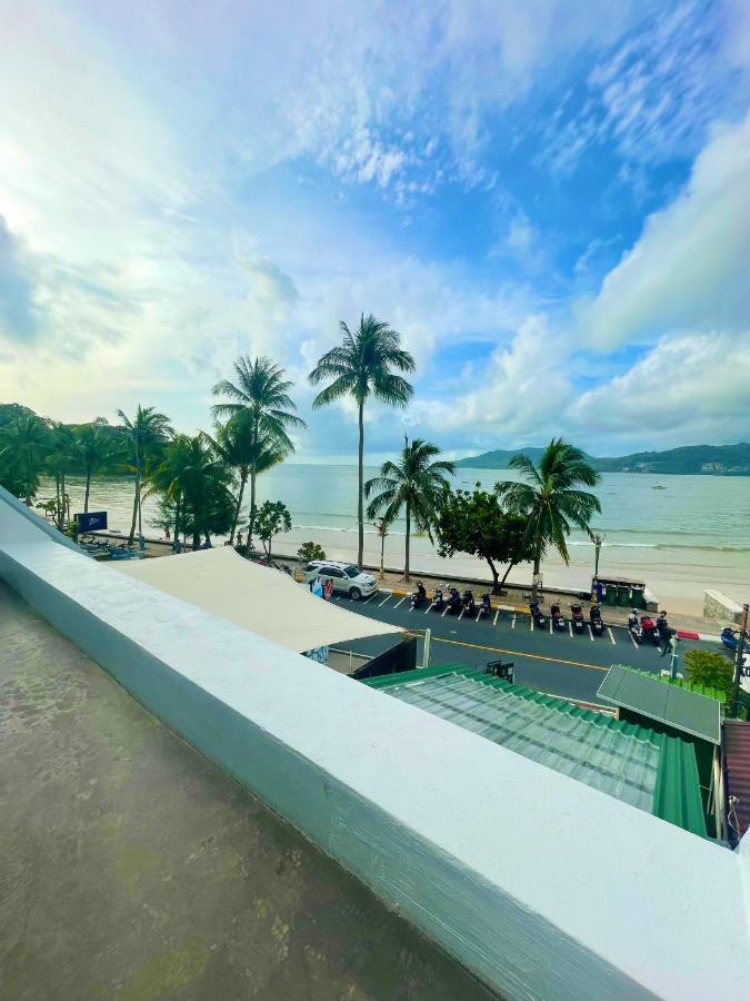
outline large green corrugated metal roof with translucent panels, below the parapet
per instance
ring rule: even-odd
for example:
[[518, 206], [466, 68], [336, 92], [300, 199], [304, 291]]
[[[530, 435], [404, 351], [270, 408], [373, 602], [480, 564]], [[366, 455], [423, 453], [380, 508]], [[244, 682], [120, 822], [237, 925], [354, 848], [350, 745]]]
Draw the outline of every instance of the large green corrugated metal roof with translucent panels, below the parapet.
[[696, 752], [687, 741], [460, 666], [366, 684], [706, 836]]

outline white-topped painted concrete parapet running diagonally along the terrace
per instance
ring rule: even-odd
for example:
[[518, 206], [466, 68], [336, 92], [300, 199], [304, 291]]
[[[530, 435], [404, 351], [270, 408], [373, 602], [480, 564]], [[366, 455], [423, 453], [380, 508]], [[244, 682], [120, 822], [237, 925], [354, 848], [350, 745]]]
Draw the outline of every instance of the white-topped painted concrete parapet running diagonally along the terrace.
[[123, 577], [4, 493], [0, 576], [504, 995], [747, 997], [750, 843], [702, 841]]

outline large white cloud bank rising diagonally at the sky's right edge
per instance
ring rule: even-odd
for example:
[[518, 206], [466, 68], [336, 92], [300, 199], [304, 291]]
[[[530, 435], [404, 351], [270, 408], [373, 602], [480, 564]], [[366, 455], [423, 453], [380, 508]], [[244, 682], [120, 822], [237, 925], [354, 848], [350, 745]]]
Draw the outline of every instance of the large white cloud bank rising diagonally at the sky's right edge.
[[714, 128], [684, 191], [579, 304], [579, 327], [601, 349], [686, 327], [737, 330], [750, 315], [749, 268], [750, 115]]

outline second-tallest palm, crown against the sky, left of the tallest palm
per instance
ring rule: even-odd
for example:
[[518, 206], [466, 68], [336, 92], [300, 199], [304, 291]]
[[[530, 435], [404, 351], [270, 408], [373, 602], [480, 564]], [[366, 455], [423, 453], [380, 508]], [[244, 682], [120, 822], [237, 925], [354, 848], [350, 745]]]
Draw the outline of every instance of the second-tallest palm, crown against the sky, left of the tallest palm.
[[[248, 356], [234, 363], [236, 381], [221, 379], [213, 387], [214, 396], [223, 396], [228, 402], [214, 404], [213, 416], [234, 417], [247, 412], [249, 419], [240, 429], [248, 436], [249, 475], [250, 475], [250, 521], [248, 523], [248, 546], [252, 542], [256, 522], [256, 479], [262, 473], [261, 442], [282, 457], [294, 450], [288, 429], [307, 427], [306, 423], [292, 410], [297, 405], [289, 396], [293, 383], [284, 379], [284, 369], [269, 358], [250, 360]], [[273, 465], [273, 463], [271, 463]], [[268, 468], [266, 466], [264, 468]], [[242, 485], [243, 486], [243, 485]], [[239, 517], [239, 512], [238, 512]]]

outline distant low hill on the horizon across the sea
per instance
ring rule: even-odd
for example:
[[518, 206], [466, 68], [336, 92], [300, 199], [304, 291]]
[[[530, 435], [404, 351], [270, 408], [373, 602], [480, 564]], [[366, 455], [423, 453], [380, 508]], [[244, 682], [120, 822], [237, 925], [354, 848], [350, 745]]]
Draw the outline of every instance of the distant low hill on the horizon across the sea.
[[[507, 469], [514, 455], [538, 462], [543, 448], [497, 449], [459, 459], [460, 469]], [[750, 444], [686, 445], [667, 452], [637, 452], [619, 457], [588, 456], [600, 473], [692, 474], [703, 476], [750, 476]]]

